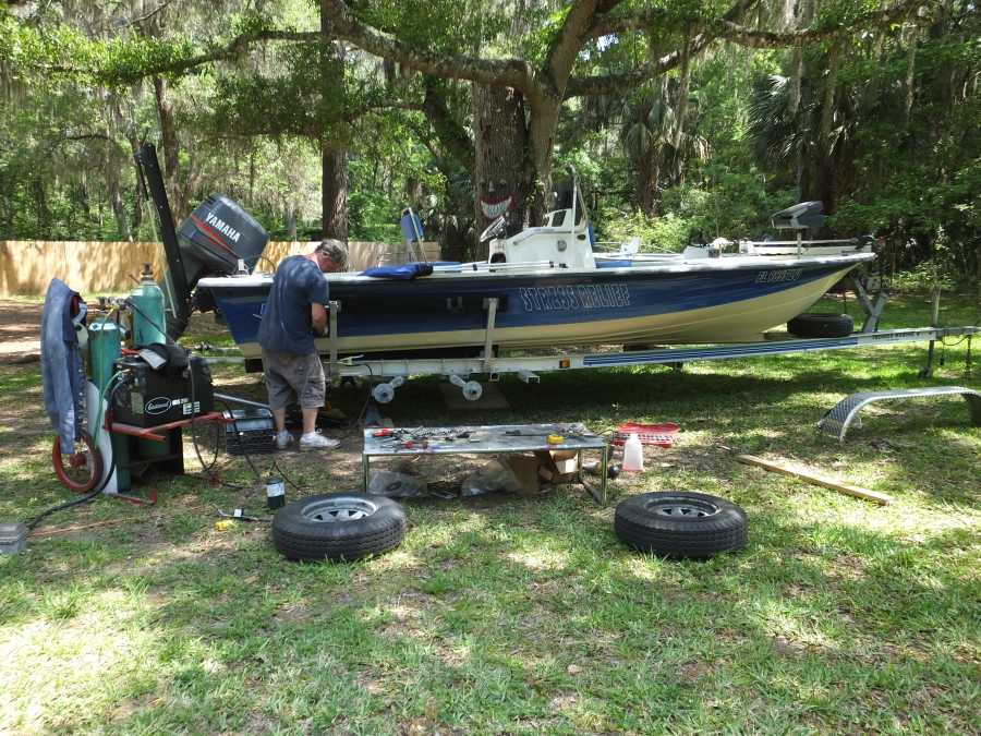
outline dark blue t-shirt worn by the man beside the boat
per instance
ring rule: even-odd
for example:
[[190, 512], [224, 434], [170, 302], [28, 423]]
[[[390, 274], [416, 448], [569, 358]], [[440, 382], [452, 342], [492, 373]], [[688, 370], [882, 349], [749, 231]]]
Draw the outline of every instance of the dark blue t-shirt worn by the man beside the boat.
[[272, 278], [259, 324], [259, 345], [294, 355], [316, 352], [311, 304], [327, 304], [327, 279], [313, 261], [291, 255], [279, 264]]

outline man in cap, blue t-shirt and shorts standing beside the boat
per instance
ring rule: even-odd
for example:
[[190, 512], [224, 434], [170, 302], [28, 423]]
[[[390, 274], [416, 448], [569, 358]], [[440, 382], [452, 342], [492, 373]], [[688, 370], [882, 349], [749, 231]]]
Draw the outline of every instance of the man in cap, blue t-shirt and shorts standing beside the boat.
[[325, 240], [313, 253], [282, 261], [272, 278], [258, 341], [279, 449], [286, 449], [293, 441], [286, 429], [286, 408], [293, 396], [303, 412], [300, 449], [331, 449], [340, 444], [316, 429], [327, 382], [314, 337], [323, 335], [327, 327], [328, 289], [324, 274], [343, 270], [347, 263], [343, 243]]

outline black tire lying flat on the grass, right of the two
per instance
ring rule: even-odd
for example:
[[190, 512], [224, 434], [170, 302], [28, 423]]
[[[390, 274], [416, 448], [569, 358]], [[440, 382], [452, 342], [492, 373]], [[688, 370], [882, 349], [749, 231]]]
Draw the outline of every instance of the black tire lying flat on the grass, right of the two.
[[662, 557], [711, 557], [746, 546], [746, 511], [704, 493], [644, 493], [617, 506], [614, 530], [634, 550]]

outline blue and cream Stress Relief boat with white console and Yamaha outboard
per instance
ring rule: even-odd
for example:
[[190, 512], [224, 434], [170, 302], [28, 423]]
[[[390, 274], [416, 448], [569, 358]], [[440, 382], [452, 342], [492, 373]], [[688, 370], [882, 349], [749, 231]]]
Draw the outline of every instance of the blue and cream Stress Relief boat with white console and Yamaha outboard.
[[[245, 358], [255, 359], [272, 285], [271, 274], [255, 268], [267, 238], [232, 205], [220, 196], [202, 204], [182, 225], [179, 246], [168, 245], [164, 227], [171, 272], [165, 292], [169, 288], [175, 324], [189, 305], [215, 309]], [[158, 212], [161, 219], [168, 214]], [[511, 237], [505, 227], [501, 216], [482, 234], [489, 241], [485, 262], [432, 264], [411, 279], [384, 268], [325, 274], [335, 331], [317, 340], [318, 349], [378, 357], [476, 354], [492, 342], [497, 350], [750, 342], [875, 257], [867, 250], [770, 255], [711, 245], [656, 256], [600, 253], [574, 177], [571, 196], [542, 226]], [[243, 257], [234, 272], [207, 275], [198, 266], [216, 263], [216, 253], [228, 263], [229, 254], [249, 253], [252, 263]], [[193, 272], [184, 283], [174, 274], [181, 268]]]

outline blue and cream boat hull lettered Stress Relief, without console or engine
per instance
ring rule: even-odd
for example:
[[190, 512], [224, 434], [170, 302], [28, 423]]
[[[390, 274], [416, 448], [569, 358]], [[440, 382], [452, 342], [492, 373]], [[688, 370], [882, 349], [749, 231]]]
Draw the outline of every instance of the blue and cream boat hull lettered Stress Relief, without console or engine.
[[[486, 340], [487, 300], [498, 309], [493, 342], [506, 349], [623, 342], [748, 342], [804, 312], [872, 254], [774, 258], [732, 256], [594, 269], [437, 273], [410, 281], [330, 274], [340, 302], [342, 354], [476, 348]], [[271, 276], [202, 279], [246, 358]], [[329, 340], [317, 342], [322, 352]]]

